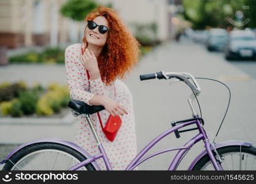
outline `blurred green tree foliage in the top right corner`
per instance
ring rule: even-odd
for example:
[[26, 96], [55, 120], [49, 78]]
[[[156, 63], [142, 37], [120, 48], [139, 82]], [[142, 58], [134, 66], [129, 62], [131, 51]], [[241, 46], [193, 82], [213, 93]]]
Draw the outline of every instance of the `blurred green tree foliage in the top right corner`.
[[[228, 21], [235, 21], [236, 11], [244, 13], [242, 20], [250, 18], [250, 22], [242, 28], [256, 27], [256, 2], [254, 0], [183, 0], [184, 18], [191, 21], [193, 28], [204, 29], [206, 26], [226, 28], [231, 25]], [[244, 9], [247, 6], [249, 9]]]

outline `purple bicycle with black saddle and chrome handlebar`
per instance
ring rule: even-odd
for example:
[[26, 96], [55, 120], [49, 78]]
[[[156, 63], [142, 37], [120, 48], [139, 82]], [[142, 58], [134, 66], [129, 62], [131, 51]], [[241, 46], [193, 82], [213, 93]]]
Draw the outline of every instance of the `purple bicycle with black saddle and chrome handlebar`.
[[[149, 158], [152, 158], [153, 156], [165, 153], [167, 151], [178, 150], [168, 168], [168, 170], [176, 170], [185, 154], [200, 140], [203, 140], [205, 150], [200, 153], [200, 155], [196, 156], [188, 167], [188, 170], [256, 169], [256, 148], [252, 146], [252, 143], [239, 140], [231, 140], [219, 144], [216, 144], [214, 141], [212, 143], [209, 142], [208, 136], [203, 127], [204, 120], [196, 113], [195, 108], [193, 107], [193, 100], [197, 100], [196, 96], [200, 94], [201, 89], [196, 82], [196, 79], [191, 74], [161, 71], [157, 72], [156, 74], [145, 74], [140, 76], [141, 80], [156, 78], [166, 80], [174, 79], [173, 82], [182, 81], [190, 87], [193, 93], [188, 98], [188, 104], [192, 110], [193, 118], [188, 120], [173, 121], [171, 123], [171, 128], [167, 129], [165, 132], [153, 139], [152, 142], [142, 149], [142, 151], [128, 165], [126, 171], [133, 170], [139, 164], [143, 163]], [[99, 158], [103, 158], [107, 170], [112, 170], [109, 159], [107, 159], [106, 152], [104, 151], [104, 147], [95, 132], [89, 116], [92, 113], [103, 110], [104, 107], [101, 105], [88, 105], [74, 100], [69, 101], [69, 107], [71, 107], [74, 116], [82, 115], [82, 117], [86, 118], [99, 148], [99, 153], [97, 155], [92, 156], [78, 145], [65, 140], [39, 139], [20, 145], [20, 147], [16, 148], [9, 155], [7, 155], [7, 157], [0, 163], [5, 164], [3, 170], [101, 170], [101, 168], [95, 162], [96, 159]], [[227, 111], [225, 114], [227, 114]], [[222, 123], [220, 124], [219, 129]], [[191, 125], [194, 125], [194, 127], [183, 129], [186, 126]], [[147, 151], [150, 150], [150, 148], [163, 139], [163, 137], [171, 134], [172, 132], [174, 132], [176, 137], [179, 138], [181, 132], [194, 130], [198, 131], [198, 134], [190, 139], [184, 146], [169, 148], [168, 150], [158, 151], [157, 153], [144, 156]]]

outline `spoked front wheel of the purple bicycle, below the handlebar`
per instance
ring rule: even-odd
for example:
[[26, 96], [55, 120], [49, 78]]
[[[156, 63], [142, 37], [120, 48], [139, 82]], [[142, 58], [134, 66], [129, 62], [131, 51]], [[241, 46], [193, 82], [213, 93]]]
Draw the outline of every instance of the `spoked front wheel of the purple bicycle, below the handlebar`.
[[[255, 171], [256, 170], [256, 148], [244, 146], [229, 146], [217, 149], [223, 159], [223, 170]], [[215, 154], [214, 154], [215, 155]], [[208, 155], [204, 155], [192, 170], [215, 170]]]

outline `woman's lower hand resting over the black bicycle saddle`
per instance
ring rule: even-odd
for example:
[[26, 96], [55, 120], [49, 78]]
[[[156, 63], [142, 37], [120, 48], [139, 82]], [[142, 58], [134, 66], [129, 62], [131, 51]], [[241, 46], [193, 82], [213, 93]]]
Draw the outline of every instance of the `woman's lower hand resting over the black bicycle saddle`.
[[104, 96], [102, 105], [112, 116], [123, 116], [125, 113], [128, 114], [127, 110], [123, 108], [122, 105], [118, 104], [118, 102], [114, 101], [114, 99], [108, 98], [107, 96]]

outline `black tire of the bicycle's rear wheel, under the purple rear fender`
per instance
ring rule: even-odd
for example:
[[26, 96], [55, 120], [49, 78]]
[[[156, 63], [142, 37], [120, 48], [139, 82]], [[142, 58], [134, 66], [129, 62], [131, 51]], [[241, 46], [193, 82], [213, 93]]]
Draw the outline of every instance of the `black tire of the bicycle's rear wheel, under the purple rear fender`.
[[[82, 153], [79, 153], [79, 151], [74, 150], [71, 147], [68, 147], [66, 145], [61, 145], [55, 142], [42, 142], [42, 143], [36, 143], [32, 145], [28, 145], [25, 148], [22, 148], [19, 150], [17, 153], [15, 153], [13, 156], [10, 157], [10, 159], [7, 161], [7, 163], [4, 165], [2, 168], [3, 171], [10, 171], [15, 169], [14, 166], [17, 163], [22, 163], [22, 159], [27, 159], [29, 158], [29, 155], [33, 156], [36, 155], [37, 153], [42, 153], [45, 154], [44, 150], [52, 150], [53, 152], [56, 151], [56, 153], [65, 153], [64, 155], [69, 155], [69, 157], [72, 159], [72, 157], [77, 159], [77, 162], [84, 161], [87, 159]], [[10, 161], [11, 160], [11, 161]], [[56, 162], [56, 161], [55, 161]], [[56, 164], [56, 163], [55, 163]], [[17, 167], [18, 170], [22, 170], [19, 167]], [[79, 169], [87, 169], [88, 171], [95, 171], [95, 167], [93, 164], [87, 164], [83, 167], [80, 167]], [[27, 170], [27, 169], [25, 169]], [[34, 170], [34, 169], [29, 169], [29, 170]], [[48, 169], [35, 169], [35, 171], [40, 171], [40, 170], [48, 170]], [[65, 170], [65, 169], [58, 169], [58, 170]]]

